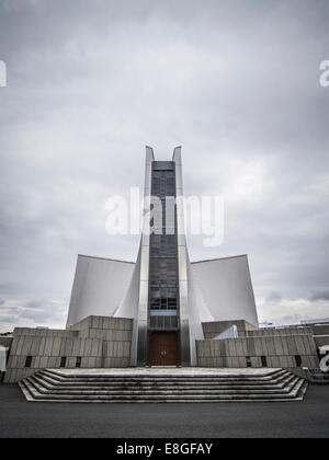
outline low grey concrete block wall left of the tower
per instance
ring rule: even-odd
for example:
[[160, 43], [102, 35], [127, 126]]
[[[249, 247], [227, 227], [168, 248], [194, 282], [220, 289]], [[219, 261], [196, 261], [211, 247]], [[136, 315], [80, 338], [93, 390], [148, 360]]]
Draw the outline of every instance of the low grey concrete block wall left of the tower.
[[[15, 329], [4, 381], [12, 383], [44, 368], [127, 367], [131, 357], [132, 320], [121, 318], [87, 318], [72, 330]], [[26, 357], [32, 356], [30, 368]]]

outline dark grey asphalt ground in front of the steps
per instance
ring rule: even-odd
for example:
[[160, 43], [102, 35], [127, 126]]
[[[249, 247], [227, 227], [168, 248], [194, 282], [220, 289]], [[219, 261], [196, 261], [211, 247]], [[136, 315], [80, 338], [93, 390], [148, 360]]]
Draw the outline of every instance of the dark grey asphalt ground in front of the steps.
[[27, 403], [0, 384], [5, 437], [329, 437], [329, 387], [309, 387], [304, 402], [194, 404]]

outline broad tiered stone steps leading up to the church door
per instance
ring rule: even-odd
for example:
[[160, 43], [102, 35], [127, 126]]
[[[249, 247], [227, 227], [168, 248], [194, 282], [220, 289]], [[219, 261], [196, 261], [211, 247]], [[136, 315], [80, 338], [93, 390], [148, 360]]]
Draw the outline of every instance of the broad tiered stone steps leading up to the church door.
[[[236, 379], [228, 383], [225, 380], [226, 384], [223, 384], [223, 381], [220, 384], [206, 384], [205, 379], [197, 381], [195, 376], [184, 376], [182, 381], [182, 376], [178, 375], [174, 376], [174, 379], [166, 378], [164, 380], [152, 379], [152, 377], [147, 376], [147, 380], [141, 379], [143, 384], [138, 384], [137, 382], [140, 383], [140, 376], [131, 373], [129, 377], [126, 375], [125, 379], [121, 376], [121, 380], [113, 382], [112, 375], [107, 375], [103, 377], [106, 384], [102, 382], [102, 386], [98, 386], [90, 382], [90, 373], [83, 376], [84, 380], [77, 379], [76, 384], [73, 384], [72, 379], [67, 379], [64, 373], [58, 377], [56, 371], [44, 370], [23, 379], [20, 387], [29, 401], [44, 402], [164, 403], [303, 400], [307, 389], [307, 382], [304, 379], [283, 369], [271, 372], [270, 376], [270, 380], [261, 379], [261, 384], [254, 384], [254, 381], [251, 383], [248, 379], [245, 380], [245, 383], [239, 381], [239, 384], [237, 384]], [[69, 373], [69, 377], [71, 377], [71, 373]], [[67, 386], [67, 380], [70, 382], [69, 386]], [[280, 382], [275, 383], [277, 380]], [[168, 381], [171, 383], [169, 384]], [[81, 386], [81, 382], [88, 382], [88, 384]], [[180, 384], [177, 384], [177, 382], [180, 382]]]

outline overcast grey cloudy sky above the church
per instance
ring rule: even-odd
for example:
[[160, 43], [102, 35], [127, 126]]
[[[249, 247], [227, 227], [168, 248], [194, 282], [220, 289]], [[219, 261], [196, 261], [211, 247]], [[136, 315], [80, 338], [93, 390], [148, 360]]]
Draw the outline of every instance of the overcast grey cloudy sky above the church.
[[262, 321], [329, 317], [328, 0], [0, 0], [0, 332], [63, 327], [77, 254], [135, 260], [109, 196], [183, 146]]

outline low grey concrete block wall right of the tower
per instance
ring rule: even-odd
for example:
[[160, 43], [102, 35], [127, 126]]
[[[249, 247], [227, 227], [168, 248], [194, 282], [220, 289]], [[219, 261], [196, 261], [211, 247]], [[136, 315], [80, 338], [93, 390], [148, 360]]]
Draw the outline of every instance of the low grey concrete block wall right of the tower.
[[[197, 365], [201, 367], [246, 368], [247, 357], [251, 367], [262, 366], [261, 357], [266, 357], [268, 367], [300, 370], [303, 367], [319, 366], [317, 347], [309, 334], [272, 335], [226, 340], [204, 340], [196, 342]], [[300, 356], [302, 366], [295, 356]]]

